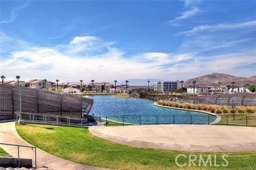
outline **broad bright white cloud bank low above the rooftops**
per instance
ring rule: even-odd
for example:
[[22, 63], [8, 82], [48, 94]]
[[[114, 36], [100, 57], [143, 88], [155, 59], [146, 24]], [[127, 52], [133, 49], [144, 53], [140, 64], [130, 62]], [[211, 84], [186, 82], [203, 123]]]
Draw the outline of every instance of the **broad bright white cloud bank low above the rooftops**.
[[[100, 40], [100, 41], [99, 41]], [[77, 53], [76, 45], [91, 45], [89, 53], [81, 48]], [[237, 67], [255, 63], [255, 51], [205, 57], [197, 53], [161, 53], [149, 52], [125, 56], [125, 51], [110, 45], [107, 51], [96, 51], [97, 45], [108, 46], [111, 42], [97, 37], [75, 37], [67, 46], [73, 44], [74, 51], [57, 47], [37, 47], [13, 51], [0, 58], [0, 74], [7, 79], [21, 75], [22, 79], [49, 79], [54, 81], [123, 81], [124, 79], [188, 79], [216, 71], [233, 73]], [[243, 56], [243, 57], [241, 57]], [[256, 63], [255, 63], [256, 64]], [[248, 73], [252, 75], [253, 73]], [[255, 73], [254, 73], [255, 74]]]

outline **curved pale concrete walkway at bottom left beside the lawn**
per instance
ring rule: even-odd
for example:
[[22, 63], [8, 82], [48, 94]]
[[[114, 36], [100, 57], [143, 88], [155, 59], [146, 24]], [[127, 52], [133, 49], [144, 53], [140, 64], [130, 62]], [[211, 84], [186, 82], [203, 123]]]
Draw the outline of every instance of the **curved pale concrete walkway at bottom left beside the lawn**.
[[[0, 143], [10, 143], [15, 145], [29, 145], [26, 141], [19, 137], [16, 129], [15, 122], [0, 123]], [[17, 147], [0, 145], [5, 151], [7, 151], [13, 157], [17, 157]], [[33, 159], [33, 165], [35, 165], [35, 152], [28, 148], [20, 148], [20, 157]], [[73, 163], [59, 157], [55, 157], [41, 149], [37, 148], [37, 166], [38, 167], [48, 167], [48, 169], [54, 170], [77, 170], [77, 169], [102, 169], [99, 167], [81, 165], [79, 163]]]

